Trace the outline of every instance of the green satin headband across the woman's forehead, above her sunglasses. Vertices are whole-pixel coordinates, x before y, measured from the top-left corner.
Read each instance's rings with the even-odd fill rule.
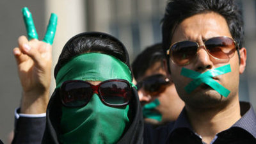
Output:
[[[113,56],[102,53],[86,53],[72,58],[59,70],[56,88],[67,80],[105,81],[125,79],[132,83],[131,70],[125,63]]]

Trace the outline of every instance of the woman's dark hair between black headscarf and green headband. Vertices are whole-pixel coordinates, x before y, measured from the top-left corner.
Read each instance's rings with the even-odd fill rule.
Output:
[[[57,76],[60,68],[71,58],[88,52],[100,52],[114,56],[124,62],[131,70],[129,55],[122,42],[106,33],[87,32],[80,33],[70,38],[65,44],[58,59],[58,63],[54,68],[54,77]]]

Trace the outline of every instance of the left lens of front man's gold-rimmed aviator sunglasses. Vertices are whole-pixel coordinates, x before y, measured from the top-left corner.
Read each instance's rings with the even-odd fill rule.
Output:
[[[177,42],[170,48],[172,60],[177,65],[188,65],[196,56],[198,45],[195,42]]]

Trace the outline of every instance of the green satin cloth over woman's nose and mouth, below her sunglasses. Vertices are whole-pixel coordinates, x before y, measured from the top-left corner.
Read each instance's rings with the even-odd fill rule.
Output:
[[[116,143],[129,125],[129,106],[112,108],[97,94],[83,108],[62,108],[61,143]]]

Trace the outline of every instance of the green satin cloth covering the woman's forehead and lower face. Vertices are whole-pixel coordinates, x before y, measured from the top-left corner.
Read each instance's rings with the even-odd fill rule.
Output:
[[[56,77],[56,87],[64,81],[105,81],[125,79],[132,85],[131,71],[113,56],[101,53],[82,54],[64,65]],[[116,143],[129,125],[129,106],[104,105],[97,94],[83,108],[62,107],[61,143]]]

